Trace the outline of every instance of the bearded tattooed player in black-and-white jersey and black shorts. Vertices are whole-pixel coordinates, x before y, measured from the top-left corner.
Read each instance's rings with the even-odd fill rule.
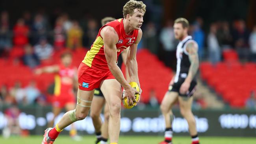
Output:
[[[198,44],[188,35],[188,29],[189,22],[185,18],[178,18],[174,21],[175,38],[180,41],[176,50],[177,70],[160,106],[166,127],[165,141],[160,144],[172,144],[174,115],[171,108],[176,101],[179,102],[180,113],[187,120],[192,144],[199,144],[196,122],[191,111],[192,95],[197,85],[195,75],[199,67]]]

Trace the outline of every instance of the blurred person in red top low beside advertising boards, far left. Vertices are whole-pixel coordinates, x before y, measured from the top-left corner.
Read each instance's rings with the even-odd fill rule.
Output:
[[[7,126],[3,129],[3,136],[8,138],[10,135],[20,135],[19,126],[20,111],[17,106],[13,105],[5,110],[4,115],[7,118]]]

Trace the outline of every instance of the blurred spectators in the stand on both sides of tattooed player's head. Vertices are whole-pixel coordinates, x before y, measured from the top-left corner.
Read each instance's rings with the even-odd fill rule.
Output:
[[[157,54],[167,66],[175,69],[178,41],[174,37],[173,20],[166,20],[159,30],[152,22],[145,25],[144,47]],[[216,21],[204,26],[204,20],[197,17],[190,21],[189,35],[197,41],[198,55],[202,61],[217,63],[222,60],[223,51],[232,49],[236,50],[241,61],[256,62],[256,26],[249,30],[243,19],[231,23]]]

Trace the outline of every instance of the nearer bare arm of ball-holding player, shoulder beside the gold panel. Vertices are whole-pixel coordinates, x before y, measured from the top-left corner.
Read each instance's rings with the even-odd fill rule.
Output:
[[[116,64],[117,48],[115,44],[119,40],[117,32],[111,26],[106,26],[100,31],[100,35],[102,36],[104,41],[104,53],[106,56],[109,70],[111,71],[115,79],[117,79],[117,81],[122,85],[122,87],[124,87],[124,97],[128,97],[128,102],[130,100],[136,102],[134,94],[137,93],[137,91],[133,89],[129,85],[129,83],[124,79],[122,71]]]

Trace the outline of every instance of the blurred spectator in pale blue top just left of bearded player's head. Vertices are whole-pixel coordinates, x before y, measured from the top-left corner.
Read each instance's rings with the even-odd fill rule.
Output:
[[[167,20],[160,32],[160,42],[163,46],[163,57],[166,66],[176,68],[176,43],[173,31],[173,20]]]

